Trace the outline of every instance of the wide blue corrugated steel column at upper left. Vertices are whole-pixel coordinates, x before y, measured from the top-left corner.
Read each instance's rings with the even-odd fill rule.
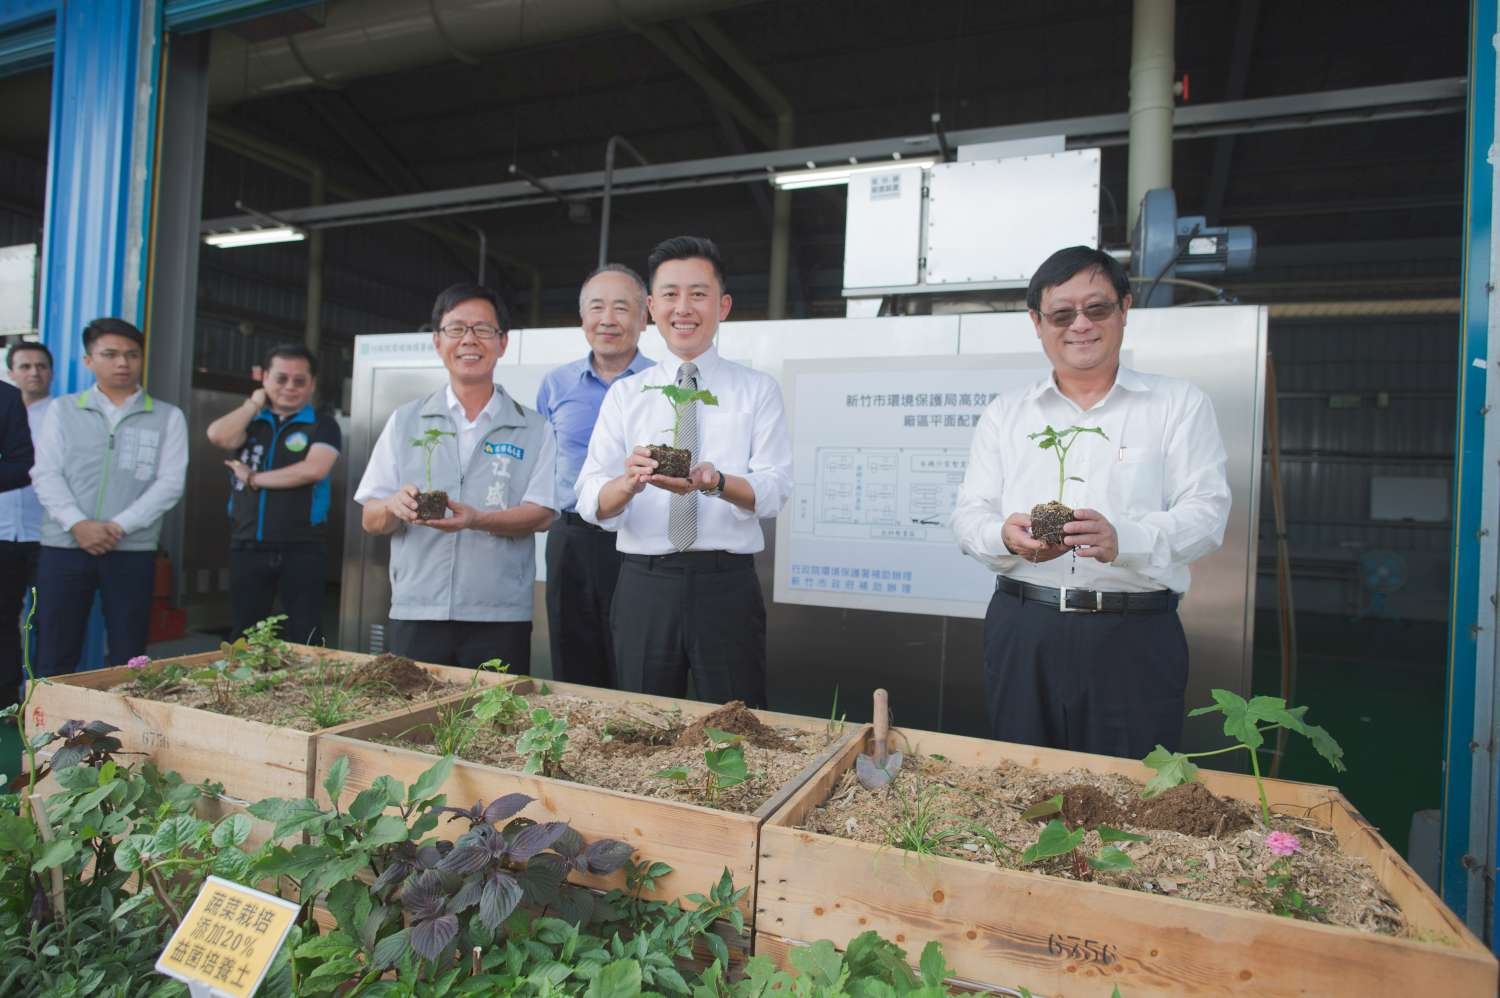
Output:
[[[144,317],[160,48],[159,0],[57,5],[40,332],[58,392],[92,381],[88,320]]]

